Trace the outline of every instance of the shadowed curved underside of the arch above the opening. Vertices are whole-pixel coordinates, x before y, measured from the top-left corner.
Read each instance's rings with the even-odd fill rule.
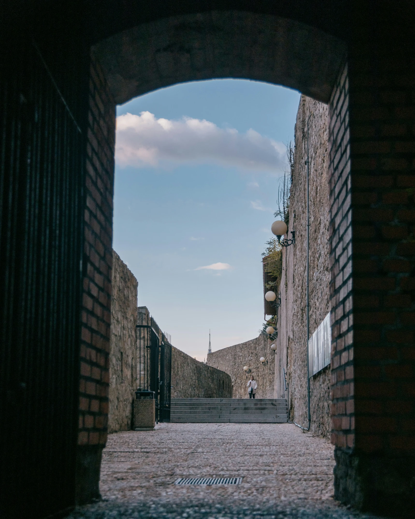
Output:
[[[344,42],[309,25],[244,11],[143,23],[93,47],[117,104],[185,81],[244,78],[328,102]]]

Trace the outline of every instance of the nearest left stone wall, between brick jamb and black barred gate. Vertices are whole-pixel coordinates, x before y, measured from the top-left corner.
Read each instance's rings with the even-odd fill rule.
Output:
[[[136,389],[137,280],[113,251],[108,432],[131,429]]]

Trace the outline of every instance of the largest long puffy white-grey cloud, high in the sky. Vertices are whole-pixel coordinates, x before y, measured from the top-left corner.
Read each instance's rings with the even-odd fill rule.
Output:
[[[121,166],[160,161],[214,162],[246,170],[282,172],[285,147],[253,129],[239,133],[205,119],[157,119],[150,112],[117,117],[116,159]]]

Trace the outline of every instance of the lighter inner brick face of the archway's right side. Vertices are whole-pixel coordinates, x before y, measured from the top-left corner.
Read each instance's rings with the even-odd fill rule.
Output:
[[[329,104],[331,441],[354,446],[352,216],[349,80],[344,66]]]

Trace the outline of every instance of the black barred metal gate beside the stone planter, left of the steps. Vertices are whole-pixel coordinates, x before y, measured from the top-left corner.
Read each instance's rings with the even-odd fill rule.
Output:
[[[156,420],[170,421],[172,346],[148,314],[139,313],[136,328],[137,389],[154,391]]]

